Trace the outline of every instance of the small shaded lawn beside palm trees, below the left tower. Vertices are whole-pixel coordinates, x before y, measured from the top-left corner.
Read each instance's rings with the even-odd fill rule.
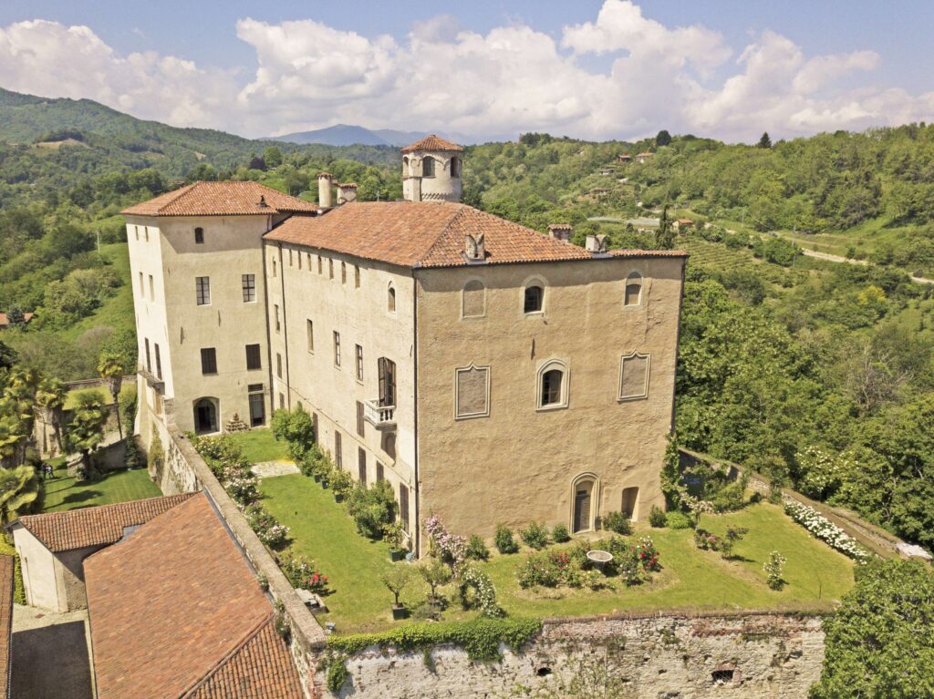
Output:
[[[76,482],[67,476],[64,466],[56,466],[55,476],[45,483],[44,512],[77,510],[162,495],[159,486],[149,480],[149,472],[145,468],[114,471],[100,481]]]

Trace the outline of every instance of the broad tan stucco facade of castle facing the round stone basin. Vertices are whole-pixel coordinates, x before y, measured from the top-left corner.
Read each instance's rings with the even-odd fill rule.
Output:
[[[575,527],[574,490],[592,483],[584,529],[611,510],[644,519],[664,506],[658,482],[672,420],[683,259],[592,259],[419,271],[420,508],[462,533],[532,520]],[[624,305],[626,280],[640,302]],[[462,317],[470,280],[484,314]],[[523,312],[523,289],[545,289]],[[644,398],[620,398],[624,356],[649,357]],[[488,367],[488,414],[456,417],[459,368]],[[541,371],[565,372],[566,404],[539,407]],[[628,501],[624,502],[624,490]],[[579,524],[579,523],[578,523]]]

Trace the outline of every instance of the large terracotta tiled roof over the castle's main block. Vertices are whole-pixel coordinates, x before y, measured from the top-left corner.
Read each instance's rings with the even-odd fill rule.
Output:
[[[488,264],[591,259],[578,245],[462,203],[346,203],[323,216],[289,218],[265,238],[423,268],[466,266],[465,237],[480,233]],[[625,252],[630,257],[684,256],[668,250]]]

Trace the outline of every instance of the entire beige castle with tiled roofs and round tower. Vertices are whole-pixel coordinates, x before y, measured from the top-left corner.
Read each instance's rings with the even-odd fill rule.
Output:
[[[301,406],[340,468],[390,482],[417,551],[432,513],[490,537],[662,505],[686,255],[459,203],[461,152],[404,148],[403,202],[334,206],[324,173],[318,207],[201,183],[124,212],[143,439],[167,412],[213,433]]]

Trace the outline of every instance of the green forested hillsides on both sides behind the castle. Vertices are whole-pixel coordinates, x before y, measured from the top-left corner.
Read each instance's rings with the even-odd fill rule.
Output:
[[[57,117],[50,116],[54,112]],[[31,124],[31,125],[30,125]],[[120,209],[184,181],[254,179],[314,201],[327,169],[363,200],[402,195],[399,152],[300,147],[0,93],[0,311],[21,363],[65,379],[113,350],[134,367]],[[652,152],[644,163],[617,156]],[[692,136],[468,147],[467,203],[576,240],[691,253],[678,439],[934,547],[934,127],[759,146]],[[675,236],[632,217],[688,217]],[[660,221],[659,221],[660,223]],[[103,244],[97,250],[97,238]],[[800,245],[878,264],[806,259]]]

